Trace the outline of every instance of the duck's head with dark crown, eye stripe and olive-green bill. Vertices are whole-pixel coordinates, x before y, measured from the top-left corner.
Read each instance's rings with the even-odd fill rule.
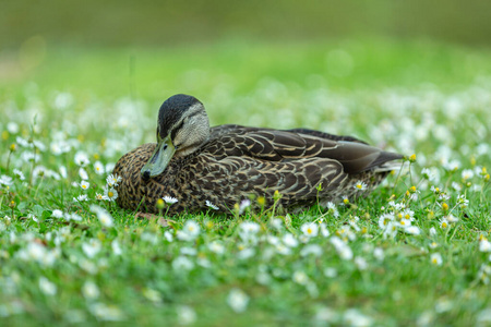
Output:
[[[178,94],[168,98],[158,111],[157,146],[143,166],[143,179],[159,175],[172,157],[195,152],[209,136],[209,121],[202,102]]]

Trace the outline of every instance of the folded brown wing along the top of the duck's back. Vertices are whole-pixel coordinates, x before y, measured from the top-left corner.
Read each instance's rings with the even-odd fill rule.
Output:
[[[267,161],[297,161],[307,158],[333,159],[347,173],[380,168],[402,155],[384,152],[358,140],[332,140],[322,132],[310,130],[279,131],[271,129],[224,125],[214,133],[205,152],[216,158],[250,157]],[[330,138],[331,137],[331,138]],[[346,136],[340,136],[346,137]]]

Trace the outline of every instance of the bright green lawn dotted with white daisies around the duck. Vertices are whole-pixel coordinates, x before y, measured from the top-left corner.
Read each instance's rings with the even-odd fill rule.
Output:
[[[490,324],[489,49],[345,40],[33,51],[29,64],[0,62],[9,68],[0,75],[2,326]],[[94,164],[153,142],[157,108],[175,93],[200,98],[212,124],[354,134],[416,154],[416,162],[367,198],[338,204],[339,216],[321,207],[275,217],[209,211],[165,217],[163,226],[95,199],[109,171],[99,175]],[[73,184],[76,153],[91,161],[86,191]],[[419,234],[397,227],[384,235],[380,217],[393,213],[398,222],[409,213],[400,205],[414,211]],[[64,218],[53,217],[57,209]],[[200,233],[179,240],[188,221]],[[251,221],[259,230],[246,240],[242,223]],[[330,235],[307,237],[310,222]],[[230,294],[247,305],[236,312]]]

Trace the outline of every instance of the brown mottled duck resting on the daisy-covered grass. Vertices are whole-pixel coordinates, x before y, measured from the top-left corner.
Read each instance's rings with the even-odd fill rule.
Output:
[[[157,201],[169,196],[178,201],[166,209],[169,215],[231,213],[251,198],[272,205],[278,191],[283,208],[303,208],[367,195],[400,158],[351,136],[307,129],[209,128],[203,104],[179,94],[158,111],[157,143],[139,146],[116,165],[116,202],[157,213]]]

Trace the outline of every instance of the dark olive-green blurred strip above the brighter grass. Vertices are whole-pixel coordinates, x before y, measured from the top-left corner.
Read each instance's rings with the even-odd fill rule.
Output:
[[[466,44],[491,41],[483,0],[2,0],[0,43],[165,46],[223,38],[275,41],[382,35]]]

